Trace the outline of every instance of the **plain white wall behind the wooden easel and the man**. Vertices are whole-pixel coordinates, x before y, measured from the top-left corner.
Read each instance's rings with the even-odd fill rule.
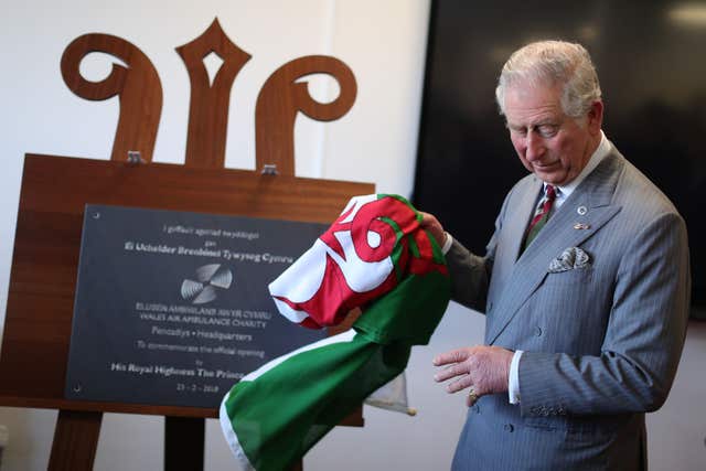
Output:
[[[331,54],[354,71],[359,96],[341,120],[297,125],[297,174],[375,182],[384,192],[409,195],[414,174],[428,0],[25,0],[3,7],[0,18],[0,335],[7,306],[14,225],[25,152],[107,159],[117,122],[117,100],[87,101],[73,95],[60,73],[66,45],[87,32],[121,36],[156,65],[164,106],[154,161],[182,162],[189,113],[189,78],[174,47],[218,17],[231,39],[253,58],[233,93],[226,167],[253,169],[254,107],[269,74],[312,53]],[[109,61],[84,62],[100,79]],[[335,86],[317,81],[313,93],[333,98]],[[333,95],[331,95],[333,93]],[[366,407],[365,428],[335,428],[306,458],[308,471],[448,469],[464,419],[463,397],[434,384],[431,357],[479,343],[482,318],[452,304],[426,347],[416,347],[408,370],[415,418]],[[700,469],[706,462],[706,324],[692,324],[670,400],[649,418],[655,470]],[[0,378],[0,381],[3,381]],[[46,468],[55,411],[0,408],[10,429],[2,471]],[[214,420],[207,421],[206,469],[233,461]],[[162,419],[107,414],[96,470],[162,468]]]

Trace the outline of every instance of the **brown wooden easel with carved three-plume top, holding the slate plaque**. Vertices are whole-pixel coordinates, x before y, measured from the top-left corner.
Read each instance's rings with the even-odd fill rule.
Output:
[[[94,51],[117,55],[129,67],[114,67],[103,83],[89,83],[79,76],[78,64]],[[333,57],[301,57],[270,76],[256,110],[257,170],[244,171],[224,168],[224,133],[229,85],[249,55],[227,40],[217,21],[178,51],[192,81],[184,165],[151,163],[161,110],[159,78],[137,47],[105,34],[87,34],[74,41],[64,53],[62,74],[69,88],[84,98],[120,96],[110,160],[25,156],[0,356],[0,406],[60,410],[50,470],[93,469],[103,413],[164,416],[164,469],[202,469],[204,418],[215,418],[218,413],[215,408],[64,398],[85,204],[325,224],[338,217],[351,196],[374,192],[368,183],[293,175],[298,111],[332,120],[343,116],[355,99],[355,79],[343,63]],[[218,72],[225,78],[216,76],[213,86],[196,71],[195,62],[207,51],[216,51],[226,60],[225,72]],[[312,100],[307,84],[295,82],[311,73],[333,75],[340,83],[339,98],[330,104]],[[151,107],[149,113],[146,106]],[[130,152],[131,161],[127,150],[137,151]],[[278,174],[264,174],[266,165]],[[342,425],[362,426],[361,410]],[[301,463],[295,469],[301,469]]]

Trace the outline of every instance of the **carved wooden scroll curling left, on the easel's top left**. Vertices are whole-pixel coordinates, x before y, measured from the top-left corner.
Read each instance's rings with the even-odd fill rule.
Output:
[[[81,61],[92,52],[111,54],[127,64],[113,64],[101,82],[81,75]],[[128,151],[139,151],[142,160],[152,160],[157,129],[162,113],[162,85],[150,60],[131,43],[109,34],[84,34],[75,39],[62,56],[64,82],[76,95],[104,100],[116,95],[120,116],[113,142],[111,160],[127,160]]]

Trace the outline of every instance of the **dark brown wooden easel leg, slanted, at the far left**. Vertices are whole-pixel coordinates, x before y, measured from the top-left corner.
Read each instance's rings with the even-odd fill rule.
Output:
[[[49,471],[90,471],[103,413],[60,410]]]

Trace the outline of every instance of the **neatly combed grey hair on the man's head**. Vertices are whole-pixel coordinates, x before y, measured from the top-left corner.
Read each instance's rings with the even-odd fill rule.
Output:
[[[601,99],[598,74],[588,51],[576,43],[541,41],[515,51],[500,74],[495,99],[505,114],[505,89],[517,83],[563,85],[561,108],[573,118],[585,116]]]

